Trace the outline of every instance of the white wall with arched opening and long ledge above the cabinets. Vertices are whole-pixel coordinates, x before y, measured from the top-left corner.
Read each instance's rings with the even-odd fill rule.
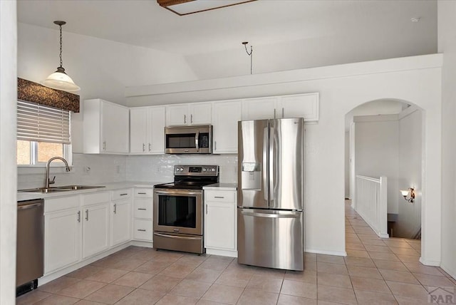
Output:
[[[237,78],[127,88],[128,104],[160,105],[320,93],[320,120],[306,125],[306,251],[344,254],[345,115],[371,100],[410,101],[425,111],[422,262],[440,263],[441,56],[310,68]],[[424,178],[423,178],[424,179]],[[331,192],[328,192],[331,190]],[[426,202],[434,202],[426,205]]]

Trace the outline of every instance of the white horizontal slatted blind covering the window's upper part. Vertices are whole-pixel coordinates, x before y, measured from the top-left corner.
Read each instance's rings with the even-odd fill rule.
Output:
[[[18,100],[17,140],[70,144],[70,111]]]

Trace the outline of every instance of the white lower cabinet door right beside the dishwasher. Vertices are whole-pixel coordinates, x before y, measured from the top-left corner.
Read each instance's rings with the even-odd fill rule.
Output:
[[[79,261],[81,252],[80,210],[52,212],[44,217],[44,274]]]

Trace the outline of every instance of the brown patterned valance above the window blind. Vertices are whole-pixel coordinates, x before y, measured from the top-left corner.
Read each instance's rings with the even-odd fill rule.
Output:
[[[51,89],[23,78],[17,78],[17,99],[79,112],[79,95]]]

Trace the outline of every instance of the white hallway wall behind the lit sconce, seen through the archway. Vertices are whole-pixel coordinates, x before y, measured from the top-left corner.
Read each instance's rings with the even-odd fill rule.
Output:
[[[393,237],[411,238],[421,227],[421,162],[422,162],[422,113],[420,110],[405,110],[399,123],[398,147],[398,221],[395,223]],[[413,203],[406,202],[399,190],[415,189]],[[432,202],[429,202],[432,205]]]

